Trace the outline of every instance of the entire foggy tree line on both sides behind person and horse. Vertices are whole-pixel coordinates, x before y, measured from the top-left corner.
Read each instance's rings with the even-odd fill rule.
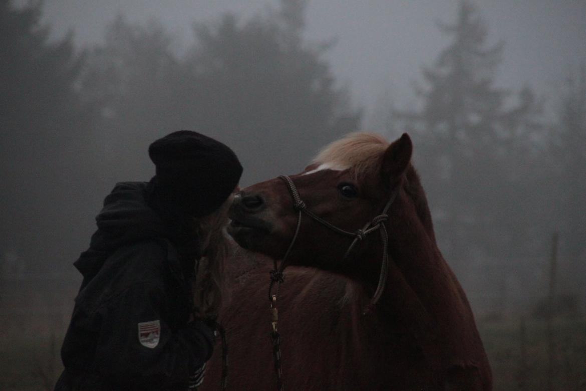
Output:
[[[226,142],[252,183],[299,171],[327,142],[360,130],[328,43],[303,38],[306,2],[266,16],[197,24],[178,53],[156,22],[120,16],[103,43],[54,42],[38,5],[0,0],[0,251],[30,270],[70,270],[114,183],[148,180],[150,142],[191,129]],[[530,86],[495,87],[503,45],[469,1],[441,24],[449,43],[415,87],[418,106],[388,107],[389,137],[408,131],[441,249],[469,285],[529,284],[560,232],[568,286],[586,276],[586,72],[567,74],[556,121]],[[539,277],[539,276],[538,276]],[[465,282],[466,285],[466,282]]]

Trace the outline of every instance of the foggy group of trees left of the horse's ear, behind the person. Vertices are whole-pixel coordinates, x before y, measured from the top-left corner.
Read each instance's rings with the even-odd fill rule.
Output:
[[[226,14],[196,25],[181,54],[161,25],[120,16],[103,43],[76,52],[71,36],[49,40],[39,5],[0,0],[3,258],[71,269],[101,199],[117,181],[148,181],[148,145],[169,132],[226,142],[252,183],[298,171],[359,128],[328,45],[302,39],[304,12],[284,0],[263,17]]]

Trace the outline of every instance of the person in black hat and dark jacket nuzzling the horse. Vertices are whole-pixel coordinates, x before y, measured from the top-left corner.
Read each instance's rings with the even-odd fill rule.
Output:
[[[156,175],[117,183],[74,263],[83,282],[55,390],[185,390],[202,381],[242,166],[229,147],[192,131],[148,152]]]

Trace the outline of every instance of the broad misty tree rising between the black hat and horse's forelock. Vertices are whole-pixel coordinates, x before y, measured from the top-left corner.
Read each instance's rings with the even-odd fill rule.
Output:
[[[328,45],[302,38],[305,4],[285,0],[268,18],[226,16],[196,30],[193,69],[209,91],[197,123],[229,137],[249,168],[245,181],[299,171],[318,148],[359,126],[323,59]]]

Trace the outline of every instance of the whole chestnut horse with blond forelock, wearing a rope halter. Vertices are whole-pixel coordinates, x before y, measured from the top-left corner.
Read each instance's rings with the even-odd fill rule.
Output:
[[[280,260],[294,242],[278,293],[285,389],[491,389],[468,300],[435,241],[412,149],[407,134],[392,144],[350,134],[291,183],[275,178],[236,196],[229,232],[240,246]],[[232,300],[221,317],[228,389],[277,389],[264,256],[248,253],[230,266]],[[220,356],[208,366],[206,390],[220,387]]]

